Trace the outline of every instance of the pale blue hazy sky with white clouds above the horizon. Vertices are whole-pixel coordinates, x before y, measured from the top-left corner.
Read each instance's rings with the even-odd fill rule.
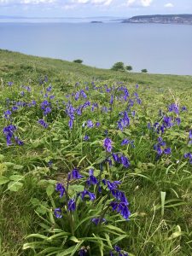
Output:
[[[0,15],[89,17],[192,14],[192,0],[0,0]]]

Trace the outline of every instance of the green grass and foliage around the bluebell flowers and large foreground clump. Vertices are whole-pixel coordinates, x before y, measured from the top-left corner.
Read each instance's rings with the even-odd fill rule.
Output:
[[[49,82],[39,85],[44,75]],[[14,105],[14,102],[6,103],[7,98],[15,102],[37,102],[35,107],[19,107],[12,113],[12,122],[18,127],[17,136],[25,143],[23,146],[8,147],[3,132],[0,137],[0,182],[2,177],[9,179],[8,183],[0,185],[0,255],[36,255],[22,247],[27,235],[42,232],[39,225],[42,219],[38,214],[45,217],[44,209],[50,209],[52,198],[56,197],[55,192],[47,195],[48,185],[55,181],[65,183],[67,172],[74,166],[79,166],[84,175],[90,166],[98,170],[98,163],[106,154],[102,147],[106,130],[113,141],[113,152],[120,151],[131,161],[128,169],[116,164],[108,172],[108,166],[104,167],[106,178],[123,181],[121,189],[130,201],[131,220],[119,224],[127,235],[120,246],[134,256],[191,255],[192,165],[183,154],[192,153],[192,144],[188,144],[189,130],[192,130],[192,77],[113,72],[0,50],[0,79],[1,116]],[[8,86],[9,81],[14,84]],[[92,81],[103,92],[94,90]],[[116,99],[111,112],[102,112],[103,106],[110,107],[111,94],[120,94],[114,92],[116,90],[106,93],[105,84],[108,88],[113,85],[118,88],[122,85],[120,81],[129,90],[131,99],[135,97],[135,84],[139,84],[137,93],[142,99],[141,105],[135,102],[131,108],[136,111],[136,117],[129,113],[131,124],[124,131],[117,130],[117,121],[127,102]],[[77,82],[79,85],[75,86]],[[38,119],[43,117],[41,91],[45,92],[49,83],[53,86],[49,94],[55,95],[55,99],[51,100],[52,112],[45,118],[49,128],[44,129],[38,125]],[[21,85],[29,85],[32,91],[26,92]],[[87,108],[81,116],[75,116],[74,128],[69,130],[69,118],[62,102],[68,101],[67,94],[85,86],[90,88],[85,91],[88,97],[75,101],[70,96],[73,106],[77,108],[90,100],[98,102],[99,108],[94,112]],[[21,90],[25,90],[24,96],[20,96]],[[186,106],[188,111],[179,113],[181,125],[166,129],[162,135],[167,147],[172,148],[172,154],[164,154],[157,160],[154,143],[158,134],[148,130],[147,124],[160,122],[159,110],[175,119],[176,113],[167,113],[167,106],[174,102],[180,108]],[[83,128],[88,119],[102,125]],[[1,131],[9,123],[2,118]],[[84,142],[84,135],[88,135],[90,141]],[[135,148],[120,145],[125,137],[134,140]],[[53,160],[51,168],[49,160]],[[13,181],[14,186],[9,188]]]

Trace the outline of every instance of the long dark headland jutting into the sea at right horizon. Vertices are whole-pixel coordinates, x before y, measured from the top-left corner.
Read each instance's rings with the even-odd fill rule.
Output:
[[[192,25],[192,15],[139,15],[122,20],[122,23],[160,23]]]

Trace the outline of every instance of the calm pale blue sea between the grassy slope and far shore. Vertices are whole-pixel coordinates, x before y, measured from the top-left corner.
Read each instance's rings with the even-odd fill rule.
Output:
[[[110,68],[192,75],[192,26],[163,24],[0,23],[0,48],[29,55],[84,60]]]

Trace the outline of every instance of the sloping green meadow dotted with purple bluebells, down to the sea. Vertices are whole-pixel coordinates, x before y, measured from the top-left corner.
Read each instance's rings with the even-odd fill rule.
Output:
[[[191,96],[0,50],[0,255],[191,255]]]

